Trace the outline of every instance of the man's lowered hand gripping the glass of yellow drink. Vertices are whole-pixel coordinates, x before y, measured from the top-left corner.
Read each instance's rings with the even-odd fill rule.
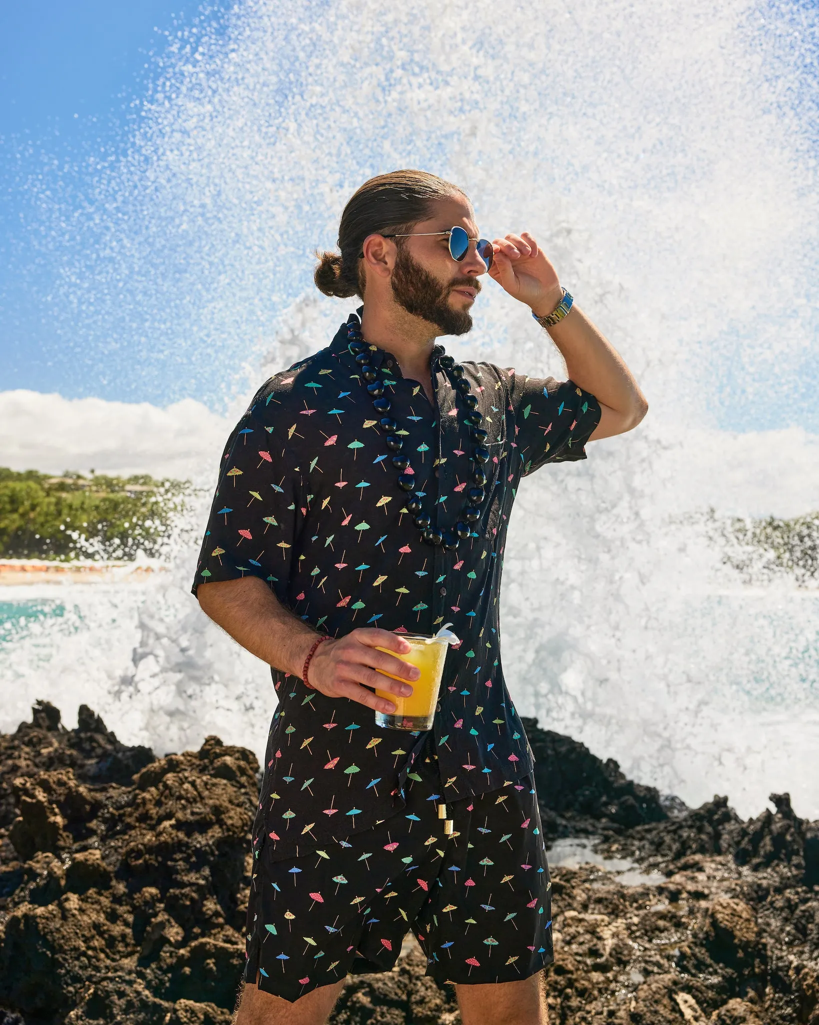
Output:
[[[376,711],[393,714],[392,701],[378,697],[368,688],[378,687],[380,691],[410,697],[413,688],[408,682],[418,680],[421,670],[378,648],[388,648],[400,655],[410,651],[410,645],[399,633],[361,626],[318,646],[308,670],[310,684],[329,698],[349,698]],[[391,680],[385,672],[401,680]]]

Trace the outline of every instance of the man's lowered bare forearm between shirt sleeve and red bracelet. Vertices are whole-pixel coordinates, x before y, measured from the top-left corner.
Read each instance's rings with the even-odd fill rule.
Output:
[[[263,662],[301,676],[318,634],[278,601],[258,577],[201,583],[202,610],[243,648]]]

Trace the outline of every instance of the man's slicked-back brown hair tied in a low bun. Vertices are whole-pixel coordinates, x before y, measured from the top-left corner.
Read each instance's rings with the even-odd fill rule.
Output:
[[[369,235],[411,231],[431,216],[435,203],[463,189],[428,171],[390,171],[364,181],[344,207],[339,225],[340,252],[320,252],[313,280],[325,295],[363,298],[361,246]]]

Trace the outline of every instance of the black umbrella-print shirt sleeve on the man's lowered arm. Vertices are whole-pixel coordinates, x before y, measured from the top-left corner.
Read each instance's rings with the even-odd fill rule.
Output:
[[[286,598],[296,540],[293,458],[274,413],[250,407],[227,441],[191,587],[257,576]],[[269,423],[267,422],[269,420]],[[276,440],[277,436],[277,440]]]

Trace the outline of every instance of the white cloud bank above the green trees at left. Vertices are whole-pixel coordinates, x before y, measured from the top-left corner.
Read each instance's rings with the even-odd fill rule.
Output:
[[[238,415],[218,416],[193,399],[160,409],[147,402],[0,392],[0,465],[202,480],[215,474]]]

